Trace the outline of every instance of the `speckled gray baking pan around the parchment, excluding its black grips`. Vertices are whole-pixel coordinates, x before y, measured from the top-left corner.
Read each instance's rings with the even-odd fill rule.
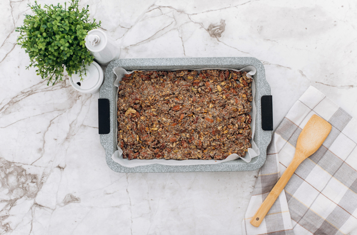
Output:
[[[202,69],[202,68],[227,68],[242,69],[246,66],[254,66],[257,73],[253,75],[256,83],[256,95],[254,100],[257,107],[256,130],[254,141],[258,145],[260,155],[253,158],[249,163],[241,159],[222,162],[212,165],[191,165],[191,166],[168,166],[151,164],[137,167],[124,167],[112,160],[113,153],[117,150],[116,136],[116,92],[114,86],[116,75],[113,72],[115,67],[122,67],[127,71],[132,70],[173,70],[173,69]],[[204,58],[136,58],[119,59],[112,61],[105,71],[104,83],[100,88],[100,98],[110,101],[110,133],[100,134],[100,143],[106,151],[108,166],[116,172],[191,172],[191,171],[245,171],[257,170],[265,162],[267,146],[270,143],[272,131],[262,129],[261,117],[261,97],[270,95],[270,86],[265,79],[263,64],[252,57],[204,57]],[[203,160],[202,160],[203,161]]]

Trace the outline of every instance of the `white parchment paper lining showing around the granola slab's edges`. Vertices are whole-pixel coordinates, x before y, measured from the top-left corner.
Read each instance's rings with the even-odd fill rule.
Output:
[[[207,69],[220,69],[220,70],[226,70],[224,68],[205,68],[205,69],[195,69],[197,71],[201,70],[207,70]],[[175,69],[175,70],[185,70],[185,69]],[[175,71],[172,70],[172,71]],[[192,69],[188,69],[192,70]],[[256,74],[257,70],[253,66],[247,66],[241,70],[236,70],[236,69],[229,69],[229,70],[234,70],[234,71],[243,71],[247,72],[247,76],[251,77],[252,75]],[[127,72],[125,69],[117,67],[113,69],[114,73],[117,76],[117,79],[114,82],[114,85],[116,87],[119,87],[120,81],[124,74],[131,74],[135,71]],[[146,70],[143,70],[146,71]],[[256,114],[257,114],[257,108],[256,108],[256,103],[254,102],[254,96],[256,94],[256,86],[254,83],[254,80],[251,83],[251,92],[253,96],[253,101],[251,102],[252,110],[250,112],[251,115],[251,148],[248,149],[248,152],[245,154],[244,157],[240,157],[238,154],[231,154],[224,160],[197,160],[197,159],[188,159],[188,160],[175,160],[175,159],[132,159],[129,160],[127,158],[123,158],[123,151],[120,149],[118,146],[118,150],[114,152],[112,155],[113,161],[119,163],[122,166],[126,167],[135,167],[135,166],[144,166],[144,165],[149,165],[149,164],[162,164],[162,165],[171,165],[171,166],[187,166],[187,165],[206,165],[206,164],[217,164],[221,162],[227,162],[227,161],[232,161],[236,160],[238,158],[241,158],[245,162],[250,162],[252,158],[257,157],[259,155],[259,149],[257,144],[254,142],[253,137],[254,137],[254,130],[256,128]],[[116,106],[117,106],[117,101],[118,101],[118,92],[116,95]],[[116,109],[117,113],[117,109]],[[118,138],[118,124],[116,123],[116,138]]]

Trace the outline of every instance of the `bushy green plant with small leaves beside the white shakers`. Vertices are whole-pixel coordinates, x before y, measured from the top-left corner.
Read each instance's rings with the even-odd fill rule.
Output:
[[[47,85],[62,81],[64,69],[68,75],[86,76],[85,65],[93,62],[94,56],[85,46],[88,31],[100,26],[91,22],[87,8],[79,9],[79,0],[72,0],[70,6],[54,5],[31,6],[33,15],[26,15],[17,39],[18,44],[30,56],[31,64],[36,67],[37,75],[47,79]],[[84,68],[84,69],[83,69]],[[83,77],[82,77],[83,76]]]

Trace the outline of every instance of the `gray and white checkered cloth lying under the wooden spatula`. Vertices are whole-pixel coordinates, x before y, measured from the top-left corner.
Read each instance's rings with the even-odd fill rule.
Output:
[[[297,138],[313,114],[332,125],[320,149],[305,159],[257,228],[250,219],[283,174]],[[348,234],[357,228],[357,121],[315,87],[276,128],[242,222],[243,234]]]

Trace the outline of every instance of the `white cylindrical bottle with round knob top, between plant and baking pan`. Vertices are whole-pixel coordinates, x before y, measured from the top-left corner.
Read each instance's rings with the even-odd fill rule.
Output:
[[[119,58],[120,48],[103,31],[91,30],[85,40],[87,49],[94,55],[94,60],[99,65],[107,66],[111,61]]]

